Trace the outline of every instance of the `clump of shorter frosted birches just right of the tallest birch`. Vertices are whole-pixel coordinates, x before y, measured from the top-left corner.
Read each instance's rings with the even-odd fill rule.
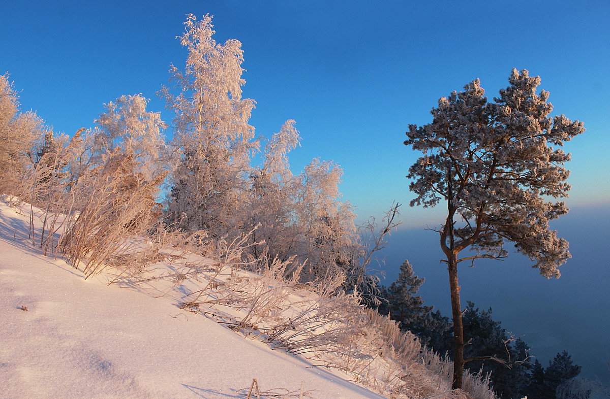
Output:
[[[340,201],[342,170],[314,159],[292,175],[287,155],[300,141],[294,123],[282,125],[265,145],[262,164],[249,172],[247,199],[240,206],[244,230],[257,227],[249,250],[255,258],[295,258],[305,265],[304,281],[343,276],[343,288],[353,290],[362,243],[349,203]]]

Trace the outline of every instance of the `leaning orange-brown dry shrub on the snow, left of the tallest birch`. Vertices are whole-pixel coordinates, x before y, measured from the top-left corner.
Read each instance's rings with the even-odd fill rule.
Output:
[[[154,201],[165,176],[145,180],[132,154],[118,150],[106,163],[83,175],[72,193],[79,200],[68,213],[60,250],[74,267],[84,263],[88,277],[103,269],[110,256],[154,224],[160,211]]]

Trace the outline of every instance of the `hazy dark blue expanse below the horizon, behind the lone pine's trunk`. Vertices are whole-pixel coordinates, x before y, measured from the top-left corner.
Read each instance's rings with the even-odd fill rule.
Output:
[[[408,212],[403,210],[404,215]],[[475,267],[462,263],[462,307],[467,300],[479,309],[491,307],[493,318],[522,336],[544,367],[567,350],[583,367],[582,377],[610,384],[610,205],[572,209],[551,228],[567,239],[572,253],[559,268],[561,278],[547,280],[531,268],[533,262],[516,253],[504,261],[476,261]],[[384,284],[397,278],[400,264],[408,259],[415,274],[425,278],[418,294],[426,305],[451,315],[438,233],[423,228],[395,231],[380,256],[386,261]]]

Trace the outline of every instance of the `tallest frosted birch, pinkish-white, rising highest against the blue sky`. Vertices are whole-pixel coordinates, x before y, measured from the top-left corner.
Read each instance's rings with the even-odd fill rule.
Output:
[[[217,44],[212,18],[189,14],[181,44],[188,50],[184,72],[171,66],[179,93],[162,88],[174,112],[174,158],[167,217],[184,230],[224,235],[241,221],[251,151],[257,143],[248,119],[254,101],[242,99],[243,51],[237,40]]]

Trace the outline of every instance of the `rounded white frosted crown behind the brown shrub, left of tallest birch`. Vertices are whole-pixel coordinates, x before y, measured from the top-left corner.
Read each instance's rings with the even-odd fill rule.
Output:
[[[133,154],[142,173],[152,178],[163,169],[160,155],[165,141],[165,122],[158,112],[146,111],[146,99],[142,94],[121,96],[115,102],[105,104],[106,112],[95,120],[95,152],[102,158],[109,157],[115,148]]]

